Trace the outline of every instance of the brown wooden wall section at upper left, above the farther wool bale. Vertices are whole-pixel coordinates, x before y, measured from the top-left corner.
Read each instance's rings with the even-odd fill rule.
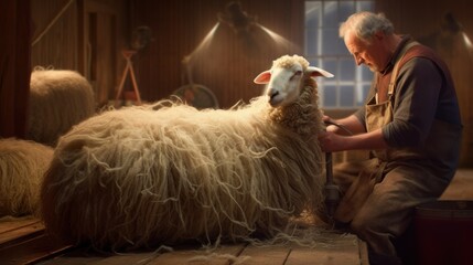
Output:
[[[118,52],[126,45],[127,0],[31,0],[31,68],[74,70],[93,85],[98,106],[114,98]]]

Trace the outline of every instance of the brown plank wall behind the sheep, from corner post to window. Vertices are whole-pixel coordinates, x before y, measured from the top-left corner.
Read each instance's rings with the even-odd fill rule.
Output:
[[[133,59],[142,97],[157,100],[169,97],[189,84],[182,61],[192,54],[218,22],[230,1],[131,0],[132,26],[148,25],[154,40]],[[254,77],[271,66],[281,54],[301,53],[304,3],[301,0],[241,0],[241,8],[257,17],[258,24],[278,33],[292,44],[271,40],[261,29],[250,31],[248,40],[238,36],[226,23],[219,23],[211,43],[192,56],[193,82],[212,89],[221,107],[247,102],[261,93]],[[248,36],[248,35],[247,35]],[[254,42],[251,42],[254,41]]]

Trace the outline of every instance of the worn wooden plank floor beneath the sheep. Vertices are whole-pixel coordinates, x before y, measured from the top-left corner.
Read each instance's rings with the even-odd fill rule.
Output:
[[[443,200],[473,200],[473,169],[459,170],[443,193]],[[26,216],[0,219],[0,264],[333,264],[367,265],[366,244],[353,234],[323,231],[315,245],[229,244],[217,248],[180,246],[155,252],[104,254],[85,247],[55,243],[44,233],[41,221]]]

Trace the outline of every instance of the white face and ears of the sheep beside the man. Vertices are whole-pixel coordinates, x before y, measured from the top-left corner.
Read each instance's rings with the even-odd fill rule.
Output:
[[[290,59],[290,56],[284,57]],[[304,68],[299,61],[292,60],[290,63],[284,61],[283,64],[276,64],[271,70],[260,73],[255,78],[255,83],[267,84],[265,94],[269,97],[269,104],[272,107],[279,107],[289,105],[298,99],[303,86],[303,78],[321,75],[326,77],[333,76],[321,68],[312,66]]]

